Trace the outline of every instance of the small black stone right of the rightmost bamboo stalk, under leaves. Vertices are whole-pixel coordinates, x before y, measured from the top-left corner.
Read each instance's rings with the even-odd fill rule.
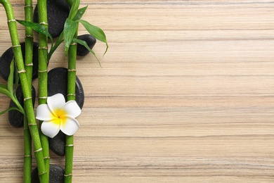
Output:
[[[96,39],[91,34],[84,34],[77,37],[88,44],[89,48],[92,49],[96,44]],[[77,56],[86,56],[89,53],[89,50],[81,44],[77,44]]]

